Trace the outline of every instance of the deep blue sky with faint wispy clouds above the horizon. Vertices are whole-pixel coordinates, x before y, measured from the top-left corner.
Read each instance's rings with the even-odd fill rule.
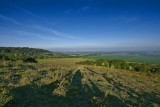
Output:
[[[0,0],[0,47],[160,50],[160,0]]]

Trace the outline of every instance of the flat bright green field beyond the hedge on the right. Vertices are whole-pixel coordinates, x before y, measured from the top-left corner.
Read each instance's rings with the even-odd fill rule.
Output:
[[[112,53],[86,57],[89,59],[120,59],[129,62],[160,64],[160,54]]]

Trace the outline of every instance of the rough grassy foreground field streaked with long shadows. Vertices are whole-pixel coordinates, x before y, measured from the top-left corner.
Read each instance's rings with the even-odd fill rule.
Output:
[[[160,75],[75,64],[81,60],[1,62],[0,106],[160,106]]]

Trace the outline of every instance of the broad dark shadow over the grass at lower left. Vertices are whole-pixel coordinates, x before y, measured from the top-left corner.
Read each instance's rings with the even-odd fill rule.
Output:
[[[13,99],[3,107],[42,107],[54,103],[52,92],[58,87],[59,81],[38,87],[36,84],[27,85],[11,90]]]

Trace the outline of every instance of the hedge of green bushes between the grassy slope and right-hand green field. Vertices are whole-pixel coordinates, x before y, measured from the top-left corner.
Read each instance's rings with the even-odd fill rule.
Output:
[[[138,71],[138,72],[152,72],[160,74],[160,65],[136,63],[136,62],[129,63],[124,60],[106,60],[106,59],[86,60],[77,62],[77,64],[104,66],[116,69]]]

